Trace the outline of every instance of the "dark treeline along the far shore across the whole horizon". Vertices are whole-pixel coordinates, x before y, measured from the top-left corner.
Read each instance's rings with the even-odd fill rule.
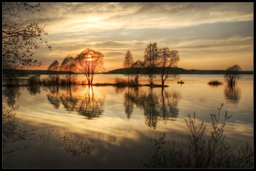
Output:
[[[48,75],[53,74],[55,71],[49,71],[49,70],[12,70],[13,73],[16,76],[27,76],[27,75]],[[159,69],[156,68],[154,74],[159,74]],[[171,67],[170,69],[172,74],[226,74],[226,70],[187,70],[187,69],[181,69],[179,67]],[[3,75],[6,75],[9,72],[9,70],[3,69]],[[239,71],[240,74],[253,74],[253,71]],[[65,74],[65,71],[58,71],[59,74]],[[81,74],[73,72],[72,74]],[[107,72],[102,72],[98,74],[125,74],[125,69],[115,69]],[[135,74],[135,73],[131,73]],[[146,69],[142,68],[141,74],[146,74]]]

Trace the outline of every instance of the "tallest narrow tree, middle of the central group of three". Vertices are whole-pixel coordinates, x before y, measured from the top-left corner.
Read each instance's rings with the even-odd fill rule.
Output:
[[[153,84],[153,79],[155,78],[155,69],[158,66],[158,47],[157,43],[150,43],[144,51],[144,63],[147,71],[147,76],[150,84]]]

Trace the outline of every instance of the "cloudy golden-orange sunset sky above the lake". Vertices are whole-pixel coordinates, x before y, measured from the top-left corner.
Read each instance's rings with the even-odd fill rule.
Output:
[[[40,2],[44,10],[23,12],[20,22],[45,25],[34,59],[47,70],[57,60],[86,48],[104,55],[105,71],[123,68],[129,49],[144,59],[150,43],[179,52],[183,69],[253,70],[253,2]]]

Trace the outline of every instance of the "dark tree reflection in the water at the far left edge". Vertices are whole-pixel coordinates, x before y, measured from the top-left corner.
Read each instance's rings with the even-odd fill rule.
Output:
[[[11,86],[11,87],[3,88],[3,97],[7,97],[5,101],[9,107],[13,107],[15,105],[15,99],[19,99],[20,97],[19,91],[20,91],[19,86]]]

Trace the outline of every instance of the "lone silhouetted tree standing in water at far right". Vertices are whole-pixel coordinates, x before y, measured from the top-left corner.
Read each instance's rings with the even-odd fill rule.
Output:
[[[228,82],[228,84],[230,86],[235,85],[236,79],[241,78],[240,71],[242,71],[242,69],[237,64],[233,65],[231,67],[228,67],[228,69],[226,69],[226,74],[225,74],[224,78],[226,79],[226,81]]]

